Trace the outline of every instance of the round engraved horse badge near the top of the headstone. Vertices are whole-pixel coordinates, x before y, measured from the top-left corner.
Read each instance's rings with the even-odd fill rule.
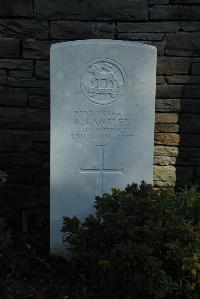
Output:
[[[122,66],[111,59],[90,62],[81,75],[81,89],[88,100],[106,105],[115,102],[126,87],[126,74]]]

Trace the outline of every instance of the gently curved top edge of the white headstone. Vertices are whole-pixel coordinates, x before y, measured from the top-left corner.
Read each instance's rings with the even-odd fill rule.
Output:
[[[134,48],[140,49],[149,49],[157,52],[157,48],[151,45],[128,41],[128,40],[113,40],[113,39],[83,39],[83,40],[75,40],[75,41],[66,41],[55,43],[51,45],[50,51],[58,48],[63,48],[65,46],[75,46],[75,45],[115,45],[115,46],[132,46]]]

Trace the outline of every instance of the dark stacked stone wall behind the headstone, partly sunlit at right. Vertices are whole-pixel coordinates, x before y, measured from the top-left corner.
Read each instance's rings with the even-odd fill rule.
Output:
[[[200,183],[200,0],[0,0],[1,213],[24,232],[48,226],[49,47],[87,38],[157,47],[155,183]]]

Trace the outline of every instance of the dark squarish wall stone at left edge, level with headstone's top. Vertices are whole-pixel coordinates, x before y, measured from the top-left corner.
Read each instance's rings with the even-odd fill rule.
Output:
[[[14,38],[0,38],[0,58],[20,57],[20,40]]]

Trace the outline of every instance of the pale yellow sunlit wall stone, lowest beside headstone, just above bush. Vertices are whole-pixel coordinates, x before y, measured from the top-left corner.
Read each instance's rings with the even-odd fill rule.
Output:
[[[162,186],[174,186],[176,182],[176,168],[171,165],[154,165],[154,182]]]

